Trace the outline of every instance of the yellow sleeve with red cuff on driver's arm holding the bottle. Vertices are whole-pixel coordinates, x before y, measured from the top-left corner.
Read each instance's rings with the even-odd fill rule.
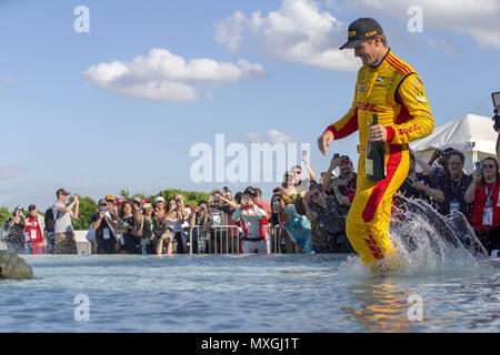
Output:
[[[418,74],[406,77],[396,95],[401,104],[401,112],[407,111],[407,113],[403,122],[386,126],[387,141],[404,144],[431,134],[434,129],[434,119],[427,101],[423,83]]]

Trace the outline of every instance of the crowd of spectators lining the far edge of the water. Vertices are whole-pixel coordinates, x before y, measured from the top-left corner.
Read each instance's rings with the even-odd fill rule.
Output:
[[[97,254],[184,253],[353,253],[346,219],[356,195],[357,174],[348,155],[336,156],[317,181],[307,156],[284,173],[270,201],[257,187],[232,192],[213,190],[208,201],[187,205],[183,195],[166,201],[108,195],[91,215],[87,239]],[[429,203],[442,215],[461,212],[491,253],[500,250],[500,173],[498,160],[486,158],[472,174],[464,173],[464,155],[452,148],[437,150],[424,162],[410,151],[408,176],[394,197]],[[417,169],[420,166],[420,169]],[[339,173],[336,173],[338,170]],[[8,248],[18,253],[76,254],[71,220],[79,199],[57,191],[57,201],[41,217],[34,205],[26,215],[16,207],[2,227]],[[403,197],[401,197],[403,196]]]

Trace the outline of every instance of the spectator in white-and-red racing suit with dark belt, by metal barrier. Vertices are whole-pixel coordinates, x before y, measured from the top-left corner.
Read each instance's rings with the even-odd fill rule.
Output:
[[[267,223],[266,211],[256,203],[257,193],[247,189],[241,196],[241,204],[232,214],[232,220],[239,222],[243,229],[242,253],[268,252],[263,225]]]

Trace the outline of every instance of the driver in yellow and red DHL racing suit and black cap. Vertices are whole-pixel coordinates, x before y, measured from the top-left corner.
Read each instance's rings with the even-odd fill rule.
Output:
[[[430,134],[434,123],[422,81],[413,69],[387,47],[380,24],[369,18],[349,26],[349,40],[362,61],[349,112],[318,139],[323,155],[333,140],[359,131],[357,193],[347,219],[347,235],[364,264],[383,270],[394,255],[389,240],[392,196],[408,175],[408,143]],[[371,125],[377,113],[379,124]],[[368,141],[384,142],[386,179],[371,181],[366,173]],[[388,257],[389,256],[389,257]]]

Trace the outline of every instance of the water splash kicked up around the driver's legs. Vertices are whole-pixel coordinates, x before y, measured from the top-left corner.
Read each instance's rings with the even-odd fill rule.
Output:
[[[434,271],[473,270],[488,260],[484,247],[461,213],[442,216],[421,200],[398,196],[401,207],[394,207],[390,224],[390,240],[396,255],[379,263],[392,274],[416,275]],[[397,260],[397,270],[391,270]],[[389,267],[387,266],[389,264]],[[348,257],[340,272],[349,276],[366,276],[369,267],[359,256]]]

